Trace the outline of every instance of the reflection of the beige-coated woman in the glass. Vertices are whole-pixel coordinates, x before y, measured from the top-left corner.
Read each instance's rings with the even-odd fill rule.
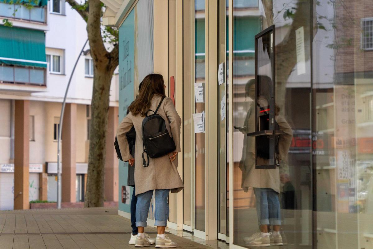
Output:
[[[242,133],[247,134],[255,130],[255,108],[269,105],[270,89],[272,80],[267,76],[260,76],[261,85],[267,88],[261,91],[257,103],[253,101],[247,112]],[[248,97],[255,100],[255,80],[250,80],[246,84],[245,92]],[[284,132],[278,140],[278,158],[286,160],[289,146],[292,139],[292,130],[285,118],[279,115],[279,107],[275,107],[275,119],[280,130]],[[256,210],[258,217],[259,230],[250,237],[244,237],[246,246],[269,246],[283,245],[280,235],[280,176],[279,167],[275,169],[256,169],[255,168],[255,137],[245,136],[244,148],[240,162],[242,170],[242,189],[247,192],[252,187],[256,197]],[[259,158],[258,161],[267,159]],[[273,232],[269,233],[269,226],[273,226]]]

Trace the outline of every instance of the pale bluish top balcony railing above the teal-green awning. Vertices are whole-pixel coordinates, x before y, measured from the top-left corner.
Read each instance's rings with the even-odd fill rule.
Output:
[[[38,6],[28,9],[24,5],[0,2],[0,16],[41,23],[45,23],[46,21],[45,7]]]

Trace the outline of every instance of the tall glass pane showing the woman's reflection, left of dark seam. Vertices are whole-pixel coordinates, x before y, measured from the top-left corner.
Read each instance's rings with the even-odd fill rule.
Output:
[[[272,239],[272,245],[311,248],[311,147],[293,142],[309,141],[311,134],[312,5],[259,1],[248,8],[233,0],[233,6],[233,243],[250,248],[258,240],[269,246]],[[273,36],[263,36],[255,47],[255,36],[272,25]],[[259,124],[272,122],[263,119],[267,112],[275,117],[267,126],[282,132],[274,149],[265,142],[270,136],[247,136],[256,131],[256,113]],[[257,168],[269,164],[276,166]]]

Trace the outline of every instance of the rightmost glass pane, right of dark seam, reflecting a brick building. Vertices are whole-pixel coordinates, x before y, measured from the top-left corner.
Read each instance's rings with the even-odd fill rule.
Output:
[[[373,247],[371,5],[367,0],[316,4],[312,146],[317,248]]]

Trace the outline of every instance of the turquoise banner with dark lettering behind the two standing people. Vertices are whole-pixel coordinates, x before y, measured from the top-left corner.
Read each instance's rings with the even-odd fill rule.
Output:
[[[134,100],[135,15],[134,9],[119,28],[119,122]],[[119,161],[119,210],[130,212],[132,187],[127,186],[128,163]]]

